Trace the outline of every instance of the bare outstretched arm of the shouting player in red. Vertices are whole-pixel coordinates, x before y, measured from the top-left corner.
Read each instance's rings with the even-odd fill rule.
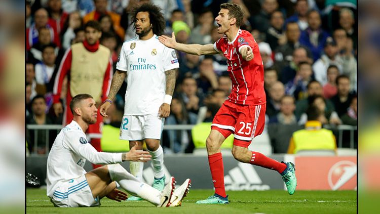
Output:
[[[172,33],[172,37],[161,35],[159,36],[159,40],[162,44],[164,44],[168,48],[173,48],[178,51],[182,51],[188,54],[194,55],[210,55],[210,54],[218,54],[214,49],[213,44],[208,45],[199,45],[199,44],[181,44],[175,40],[174,32]]]

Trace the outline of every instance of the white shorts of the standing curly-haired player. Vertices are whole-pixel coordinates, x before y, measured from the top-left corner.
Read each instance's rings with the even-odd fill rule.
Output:
[[[144,139],[161,139],[165,119],[157,114],[124,115],[120,127],[120,139],[139,141]]]

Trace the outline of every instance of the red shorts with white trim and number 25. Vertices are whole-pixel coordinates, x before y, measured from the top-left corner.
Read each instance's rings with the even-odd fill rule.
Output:
[[[216,113],[211,129],[220,132],[224,138],[234,134],[234,145],[248,147],[264,130],[266,109],[267,104],[240,105],[225,101]]]

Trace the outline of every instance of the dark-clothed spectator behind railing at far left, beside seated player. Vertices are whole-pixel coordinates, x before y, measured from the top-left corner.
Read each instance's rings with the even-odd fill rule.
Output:
[[[31,101],[31,114],[26,118],[27,124],[53,124],[52,119],[46,114],[47,106],[44,96],[37,95]],[[38,154],[46,153],[46,143],[53,143],[52,138],[49,138],[51,142],[46,142],[47,133],[45,130],[29,131],[28,146],[30,151],[37,152]],[[37,136],[34,136],[37,135]],[[35,142],[36,139],[36,142]],[[35,150],[36,148],[37,150]]]

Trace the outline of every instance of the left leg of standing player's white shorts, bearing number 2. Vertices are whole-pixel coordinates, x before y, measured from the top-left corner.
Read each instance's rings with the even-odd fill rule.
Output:
[[[139,115],[124,115],[120,126],[120,139],[128,141],[142,141],[142,123]]]

